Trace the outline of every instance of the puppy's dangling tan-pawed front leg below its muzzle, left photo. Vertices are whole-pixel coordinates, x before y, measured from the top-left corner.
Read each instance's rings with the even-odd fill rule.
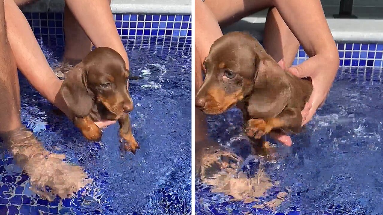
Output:
[[[124,114],[118,119],[120,125],[119,134],[122,138],[122,149],[131,151],[134,155],[136,150],[140,148],[137,141],[134,139],[132,134],[132,127],[130,125],[129,114]]]

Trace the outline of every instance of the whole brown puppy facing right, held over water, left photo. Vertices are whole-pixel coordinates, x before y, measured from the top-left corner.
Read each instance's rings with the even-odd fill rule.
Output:
[[[85,138],[100,140],[101,129],[95,121],[118,120],[122,148],[135,154],[139,145],[133,137],[128,114],[133,110],[127,89],[129,70],[121,55],[113,49],[99,47],[65,76],[59,93]]]

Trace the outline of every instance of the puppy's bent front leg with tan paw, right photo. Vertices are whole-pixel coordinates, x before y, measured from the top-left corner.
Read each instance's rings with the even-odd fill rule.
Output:
[[[256,139],[270,133],[273,129],[287,128],[293,132],[300,132],[302,123],[301,111],[296,108],[285,108],[277,117],[269,119],[249,119],[246,124],[248,137]]]

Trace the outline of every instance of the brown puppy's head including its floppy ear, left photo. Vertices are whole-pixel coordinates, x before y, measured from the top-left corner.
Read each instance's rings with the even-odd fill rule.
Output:
[[[133,110],[128,77],[123,58],[113,49],[99,47],[68,73],[61,87],[62,97],[77,117],[89,114],[94,102],[123,115]]]

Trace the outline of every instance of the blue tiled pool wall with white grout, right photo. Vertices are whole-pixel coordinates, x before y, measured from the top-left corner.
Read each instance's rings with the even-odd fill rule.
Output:
[[[383,67],[383,44],[338,43],[340,66]],[[301,46],[293,65],[308,59]]]

